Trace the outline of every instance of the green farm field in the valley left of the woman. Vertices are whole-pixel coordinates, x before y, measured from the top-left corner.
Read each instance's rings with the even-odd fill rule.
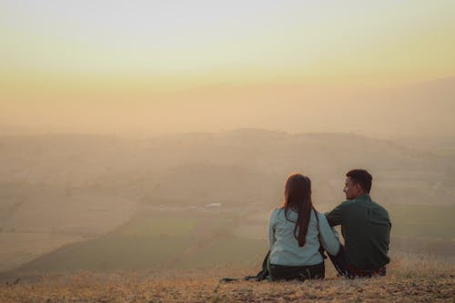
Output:
[[[232,217],[139,216],[112,232],[56,249],[21,272],[114,271],[141,268],[244,266],[267,252],[262,239],[235,237]]]

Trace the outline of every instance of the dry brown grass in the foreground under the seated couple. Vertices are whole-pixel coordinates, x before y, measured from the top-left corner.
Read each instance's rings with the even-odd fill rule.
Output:
[[[331,265],[324,280],[218,282],[256,269],[144,271],[7,277],[1,302],[454,302],[455,266],[396,256],[385,278],[344,279]]]

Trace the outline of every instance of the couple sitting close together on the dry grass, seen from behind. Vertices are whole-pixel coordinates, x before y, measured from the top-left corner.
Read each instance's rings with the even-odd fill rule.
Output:
[[[341,276],[386,275],[389,214],[369,197],[372,177],[366,170],[351,170],[346,177],[347,201],[325,215],[313,207],[309,178],[288,177],[283,206],[268,222],[267,269],[272,280],[324,278],[324,249]],[[344,246],[331,228],[338,225]]]

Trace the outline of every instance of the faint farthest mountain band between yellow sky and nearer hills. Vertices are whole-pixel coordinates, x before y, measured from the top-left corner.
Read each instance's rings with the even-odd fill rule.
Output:
[[[39,121],[48,121],[49,125],[43,126],[35,118],[30,119],[27,133],[72,131],[147,137],[147,134],[192,132],[192,136],[210,136],[207,134],[214,130],[252,127],[231,135],[243,136],[240,134],[255,129],[279,129],[292,134],[353,132],[380,137],[455,136],[452,117],[455,77],[397,87],[206,86],[169,92],[156,99],[161,101],[139,102],[133,98],[127,103],[98,106],[97,110],[75,105],[61,115],[56,115],[54,108],[43,105],[35,115],[40,116]],[[15,115],[20,115],[20,111]],[[11,114],[7,117],[11,120],[4,119],[3,123],[15,124],[20,116]],[[27,121],[24,116],[20,118]],[[22,131],[11,129],[1,134],[22,135]]]

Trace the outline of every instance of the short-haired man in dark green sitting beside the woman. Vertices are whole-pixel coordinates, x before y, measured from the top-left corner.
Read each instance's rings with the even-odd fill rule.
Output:
[[[364,169],[350,170],[343,189],[347,201],[326,213],[331,227],[341,225],[345,240],[337,256],[329,258],[348,278],[385,276],[389,263],[389,213],[369,197],[371,180]]]

